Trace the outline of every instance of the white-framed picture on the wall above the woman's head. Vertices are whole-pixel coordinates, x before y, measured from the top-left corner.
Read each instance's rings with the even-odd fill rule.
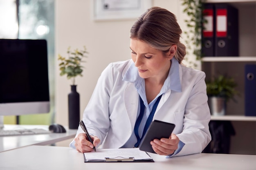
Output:
[[[152,6],[152,0],[92,0],[94,20],[135,19]]]

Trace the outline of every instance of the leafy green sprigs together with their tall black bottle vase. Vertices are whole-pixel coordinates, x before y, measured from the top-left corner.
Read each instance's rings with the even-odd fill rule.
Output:
[[[58,55],[60,61],[60,75],[67,75],[67,79],[72,80],[71,93],[68,94],[68,117],[69,117],[69,128],[77,129],[80,121],[80,95],[76,91],[75,78],[76,76],[82,75],[83,66],[81,65],[85,54],[88,53],[86,47],[83,50],[75,49],[71,51],[70,47],[67,49],[67,58],[62,55]]]

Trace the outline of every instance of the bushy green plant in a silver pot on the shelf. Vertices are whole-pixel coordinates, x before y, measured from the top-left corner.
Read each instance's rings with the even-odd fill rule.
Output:
[[[225,115],[227,101],[238,94],[234,78],[220,75],[213,81],[207,81],[206,86],[211,115]]]

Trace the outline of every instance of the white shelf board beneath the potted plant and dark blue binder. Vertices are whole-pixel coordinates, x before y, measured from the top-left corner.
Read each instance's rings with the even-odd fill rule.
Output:
[[[211,116],[211,120],[227,120],[227,121],[256,121],[256,116]]]

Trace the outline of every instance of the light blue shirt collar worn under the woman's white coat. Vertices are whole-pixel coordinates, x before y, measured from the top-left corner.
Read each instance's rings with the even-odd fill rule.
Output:
[[[164,84],[173,91],[181,92],[179,62],[174,57],[171,62],[171,68]],[[132,62],[126,73],[124,73],[123,81],[135,83],[135,87],[143,81],[143,78],[139,77],[138,69],[135,67],[134,62]],[[166,91],[166,89],[163,90]]]

